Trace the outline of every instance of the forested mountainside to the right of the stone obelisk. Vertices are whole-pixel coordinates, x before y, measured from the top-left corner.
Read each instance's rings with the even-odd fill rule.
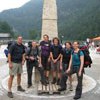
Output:
[[[57,0],[59,33],[67,39],[100,36],[100,0]]]

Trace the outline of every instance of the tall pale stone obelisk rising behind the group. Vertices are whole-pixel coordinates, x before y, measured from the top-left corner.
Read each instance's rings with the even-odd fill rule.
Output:
[[[48,34],[50,39],[58,37],[56,0],[43,1],[41,39],[43,38],[44,34]]]

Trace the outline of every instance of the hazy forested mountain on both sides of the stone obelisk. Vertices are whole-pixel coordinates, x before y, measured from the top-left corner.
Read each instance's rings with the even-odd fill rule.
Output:
[[[100,35],[100,0],[57,0],[59,37],[80,39]],[[0,13],[25,38],[29,31],[41,33],[43,0],[31,0],[17,9]]]

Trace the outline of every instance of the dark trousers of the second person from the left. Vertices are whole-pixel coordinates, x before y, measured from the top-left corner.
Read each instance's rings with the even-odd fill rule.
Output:
[[[45,81],[44,69],[43,69],[43,67],[38,67],[38,61],[34,61],[34,62],[27,61],[26,65],[27,65],[28,85],[32,85],[33,67],[38,69],[40,76],[41,76],[41,81]]]

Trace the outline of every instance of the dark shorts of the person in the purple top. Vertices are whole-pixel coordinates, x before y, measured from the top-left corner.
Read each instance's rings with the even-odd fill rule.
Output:
[[[42,56],[41,57],[41,63],[42,63],[44,70],[50,71],[51,64],[50,64],[50,62],[48,62],[48,57]]]

